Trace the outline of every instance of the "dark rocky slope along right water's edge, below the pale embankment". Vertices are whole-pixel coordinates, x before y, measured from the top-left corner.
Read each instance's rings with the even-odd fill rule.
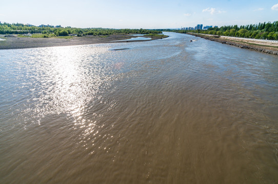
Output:
[[[259,52],[264,52],[264,53],[268,53],[268,54],[274,54],[274,55],[278,55],[278,49],[275,48],[267,48],[264,47],[263,45],[250,45],[248,43],[239,43],[239,42],[235,42],[235,41],[231,41],[231,40],[226,40],[226,39],[222,39],[222,38],[216,38],[216,37],[212,37],[212,36],[206,36],[206,35],[200,35],[200,34],[194,34],[194,33],[187,33],[193,36],[197,36],[197,37],[201,37],[201,38],[205,38],[211,41],[217,41],[223,44],[228,44],[228,45],[233,45],[235,47],[239,47],[242,49],[251,49],[254,51],[259,51]]]

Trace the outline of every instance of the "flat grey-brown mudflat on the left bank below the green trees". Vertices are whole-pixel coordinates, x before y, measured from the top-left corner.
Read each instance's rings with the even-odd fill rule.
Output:
[[[65,38],[31,38],[31,37],[4,37],[0,35],[0,38],[5,39],[0,41],[0,50],[4,49],[27,49],[27,48],[42,48],[42,47],[57,47],[57,46],[68,46],[68,45],[85,45],[94,43],[115,43],[118,42],[135,42],[135,41],[149,41],[155,39],[162,39],[163,36],[142,36],[149,37],[149,40],[126,40],[138,36],[132,34],[114,34],[109,36],[84,36],[84,37],[73,37],[69,39]],[[167,37],[167,36],[166,36]],[[111,42],[113,41],[113,42]]]

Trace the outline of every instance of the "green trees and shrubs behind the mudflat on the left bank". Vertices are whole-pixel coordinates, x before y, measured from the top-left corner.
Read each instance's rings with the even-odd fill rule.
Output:
[[[161,34],[162,31],[146,30],[146,29],[106,29],[106,28],[63,28],[61,26],[33,26],[24,24],[9,24],[4,22],[0,24],[0,34],[19,34],[26,36],[26,34],[39,34],[37,37],[60,37],[60,36],[106,36],[112,34]]]

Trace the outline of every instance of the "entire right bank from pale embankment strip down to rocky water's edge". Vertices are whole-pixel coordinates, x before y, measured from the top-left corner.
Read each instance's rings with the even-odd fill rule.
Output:
[[[272,43],[270,45],[267,42],[260,42],[260,41],[249,41],[249,40],[242,40],[242,39],[236,39],[236,38],[222,38],[222,37],[216,38],[213,36],[194,34],[194,33],[187,33],[187,34],[190,34],[193,36],[198,36],[198,37],[205,38],[205,39],[209,39],[211,41],[217,41],[220,43],[233,45],[235,47],[240,47],[243,49],[251,49],[254,51],[278,55],[278,45],[276,45],[276,43]]]

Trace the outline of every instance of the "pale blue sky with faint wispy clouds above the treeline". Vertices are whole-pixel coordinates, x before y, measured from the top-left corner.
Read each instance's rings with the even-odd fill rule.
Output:
[[[4,1],[0,21],[78,28],[181,28],[247,25],[278,20],[276,1]]]

